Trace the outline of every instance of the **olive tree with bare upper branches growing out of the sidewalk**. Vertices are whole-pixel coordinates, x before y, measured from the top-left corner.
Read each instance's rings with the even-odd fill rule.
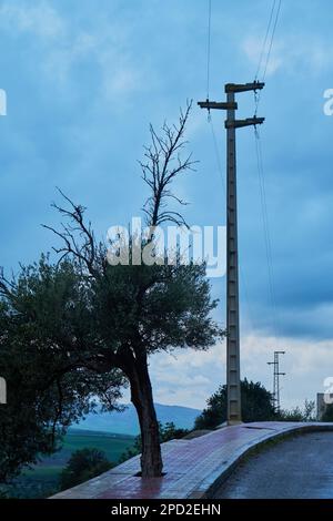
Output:
[[[150,190],[143,208],[150,233],[141,246],[151,248],[152,257],[157,226],[185,225],[182,214],[171,207],[172,202],[185,204],[171,191],[171,185],[179,175],[193,170],[191,155],[183,157],[182,154],[190,109],[188,104],[176,125],[164,123],[160,135],[150,127],[151,145],[145,147],[144,161],[140,163],[143,181]],[[120,380],[125,378],[141,428],[142,477],[161,476],[163,462],[149,359],[157,353],[175,348],[208,349],[222,335],[211,316],[216,300],[210,295],[205,264],[183,264],[181,255],[169,262],[167,252],[162,262],[159,257],[159,262],[150,265],[110,263],[109,245],[97,241],[91,223],[85,219],[85,208],[62,195],[64,204],[53,205],[61,214],[62,227],[47,226],[61,239],[54,247],[58,264],[47,264],[53,277],[51,289],[37,268],[32,279],[28,277],[28,304],[17,303],[19,286],[16,282],[8,284],[2,278],[2,293],[11,303],[13,314],[18,306],[26,313],[26,306],[33,303],[33,315],[29,316],[30,346],[51,349],[51,358],[60,354],[56,366],[51,366],[52,381],[54,375],[61,374],[62,378],[84,375],[85,390],[89,388],[102,400],[105,394],[111,394],[114,406]],[[135,241],[131,237],[128,244],[130,259]],[[63,269],[73,278],[73,287],[61,282],[61,277],[56,283]],[[36,287],[33,277],[38,280]],[[53,290],[57,296],[59,288],[63,292],[60,302],[53,296]],[[67,313],[62,314],[61,309]],[[58,377],[53,384],[59,384]],[[58,419],[61,422],[61,418]]]

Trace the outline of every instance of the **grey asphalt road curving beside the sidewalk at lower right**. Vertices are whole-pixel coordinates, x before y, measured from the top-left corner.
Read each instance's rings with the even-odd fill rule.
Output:
[[[333,432],[280,441],[249,457],[216,499],[333,498]]]

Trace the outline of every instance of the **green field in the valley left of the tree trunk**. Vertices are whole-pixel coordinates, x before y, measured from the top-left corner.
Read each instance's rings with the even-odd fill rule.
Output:
[[[63,440],[60,451],[44,458],[33,469],[26,470],[8,488],[16,498],[44,498],[58,491],[59,476],[72,452],[85,447],[103,450],[108,459],[118,463],[120,456],[132,447],[134,438],[127,435],[112,435],[89,430],[71,430]]]

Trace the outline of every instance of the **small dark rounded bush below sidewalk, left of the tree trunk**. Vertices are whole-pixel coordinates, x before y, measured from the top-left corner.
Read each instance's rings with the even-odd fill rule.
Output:
[[[72,453],[61,472],[60,489],[65,490],[83,483],[114,467],[99,449],[85,448]]]

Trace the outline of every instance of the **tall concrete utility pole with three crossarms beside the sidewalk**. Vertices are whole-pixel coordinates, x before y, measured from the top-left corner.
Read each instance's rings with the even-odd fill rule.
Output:
[[[228,423],[242,421],[241,376],[240,376],[240,317],[239,317],[239,252],[238,252],[238,203],[236,203],[236,143],[235,130],[242,126],[259,125],[264,118],[236,120],[235,93],[258,91],[264,83],[225,85],[226,102],[199,102],[201,109],[226,111],[226,387]]]

